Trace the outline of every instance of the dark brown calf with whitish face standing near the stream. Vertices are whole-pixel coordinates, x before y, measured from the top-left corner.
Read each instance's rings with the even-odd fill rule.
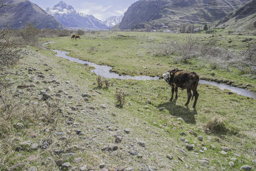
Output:
[[[188,101],[186,101],[185,105],[189,104],[191,97],[192,97],[192,100],[195,97],[193,108],[196,107],[197,99],[199,96],[199,93],[197,92],[199,76],[196,74],[196,72],[188,72],[188,71],[174,69],[166,72],[165,74],[162,74],[161,78],[164,78],[164,80],[170,86],[172,86],[172,97],[170,98],[170,101],[173,100],[174,90],[176,93],[175,99],[178,98],[178,95],[177,95],[178,87],[180,87],[181,89],[186,89],[188,93]],[[193,91],[193,96],[192,96],[191,90]]]

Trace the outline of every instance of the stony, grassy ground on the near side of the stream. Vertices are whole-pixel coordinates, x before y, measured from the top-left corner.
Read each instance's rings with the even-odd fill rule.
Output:
[[[86,65],[41,48],[25,54],[0,72],[13,83],[6,97],[13,99],[13,111],[1,115],[1,170],[256,168],[253,99],[200,85],[197,108],[192,102],[186,108],[186,92],[170,102],[162,80],[109,79],[112,87],[97,88]],[[116,107],[117,87],[128,93],[123,108]],[[216,116],[228,131],[205,133]]]

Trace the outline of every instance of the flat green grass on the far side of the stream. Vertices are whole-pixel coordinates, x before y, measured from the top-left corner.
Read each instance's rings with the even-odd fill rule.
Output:
[[[176,63],[171,56],[153,56],[150,48],[155,44],[169,42],[184,43],[192,36],[198,43],[207,44],[212,41],[208,34],[171,34],[161,32],[99,32],[98,34],[86,34],[80,40],[70,38],[43,39],[54,40],[55,43],[48,47],[70,52],[70,56],[88,60],[96,64],[112,66],[112,72],[125,75],[149,75],[159,76],[170,68],[181,68],[196,71],[202,79],[216,80],[218,82],[234,82],[234,86],[246,87],[256,91],[256,79],[242,76],[241,71],[230,67],[229,71],[224,69],[212,70],[210,64],[205,60],[192,58],[189,64]],[[254,36],[217,35],[214,37],[215,46],[229,48],[238,51],[245,50],[247,43],[245,38]],[[228,43],[229,40],[231,43]],[[90,47],[95,47],[94,52],[89,52]],[[214,72],[214,76],[212,76]]]

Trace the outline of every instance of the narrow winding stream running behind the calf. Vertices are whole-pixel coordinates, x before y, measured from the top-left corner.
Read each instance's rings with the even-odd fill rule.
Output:
[[[49,43],[53,43],[53,42],[47,42],[47,43],[44,43],[44,45],[49,44]],[[55,56],[68,59],[71,62],[76,62],[76,63],[80,63],[80,64],[88,64],[88,66],[94,67],[95,69],[91,70],[91,72],[94,72],[95,74],[100,75],[104,78],[133,79],[133,80],[158,80],[159,79],[159,77],[157,77],[157,76],[156,77],[151,77],[151,76],[119,75],[119,74],[116,74],[115,72],[110,72],[112,67],[102,66],[102,65],[98,65],[98,64],[95,64],[95,63],[92,63],[92,62],[88,62],[86,60],[80,60],[78,58],[73,58],[73,57],[67,56],[69,54],[69,52],[66,52],[66,51],[60,51],[60,50],[51,50],[51,51],[56,52]],[[228,89],[229,91],[237,93],[238,95],[251,97],[251,98],[256,100],[256,92],[252,92],[252,91],[247,90],[247,89],[233,87],[233,86],[229,86],[227,84],[222,84],[222,83],[217,83],[217,82],[210,82],[210,81],[206,81],[206,80],[200,80],[199,83],[200,84],[208,84],[208,85],[211,85],[211,86],[216,86],[216,87],[218,87],[222,90]]]

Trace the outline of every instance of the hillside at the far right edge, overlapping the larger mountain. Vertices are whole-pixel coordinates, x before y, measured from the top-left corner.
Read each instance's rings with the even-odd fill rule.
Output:
[[[218,23],[218,27],[235,32],[256,32],[256,0],[227,15]]]

